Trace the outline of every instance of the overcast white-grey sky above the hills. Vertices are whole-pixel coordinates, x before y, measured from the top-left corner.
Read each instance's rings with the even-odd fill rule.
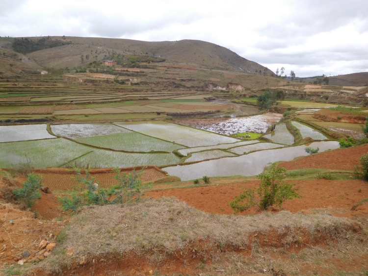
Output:
[[[0,36],[215,43],[273,72],[368,72],[368,0],[0,0]]]

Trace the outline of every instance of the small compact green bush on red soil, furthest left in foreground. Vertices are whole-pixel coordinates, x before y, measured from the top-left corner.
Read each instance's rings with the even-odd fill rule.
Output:
[[[40,189],[42,187],[42,178],[34,173],[29,174],[27,177],[27,180],[23,183],[23,187],[14,190],[14,197],[25,207],[30,208],[41,198]]]

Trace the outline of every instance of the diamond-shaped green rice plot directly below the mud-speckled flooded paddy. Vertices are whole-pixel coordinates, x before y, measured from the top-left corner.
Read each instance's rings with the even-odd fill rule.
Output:
[[[118,127],[118,126],[117,126]],[[122,127],[119,127],[122,128]],[[172,152],[183,148],[181,145],[143,135],[138,132],[122,128],[126,132],[103,136],[78,138],[76,141],[100,148],[117,151],[168,151]]]

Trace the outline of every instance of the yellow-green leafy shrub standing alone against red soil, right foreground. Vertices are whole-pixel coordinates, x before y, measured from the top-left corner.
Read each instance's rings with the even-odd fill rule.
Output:
[[[234,201],[229,202],[234,213],[246,211],[251,207],[257,207],[259,210],[267,210],[270,206],[281,208],[284,201],[301,198],[297,194],[298,189],[293,188],[294,184],[283,181],[286,172],[284,168],[277,168],[276,163],[271,164],[269,172],[263,172],[257,176],[261,179],[258,188],[247,189],[239,196],[234,197]],[[258,198],[256,198],[256,193]]]

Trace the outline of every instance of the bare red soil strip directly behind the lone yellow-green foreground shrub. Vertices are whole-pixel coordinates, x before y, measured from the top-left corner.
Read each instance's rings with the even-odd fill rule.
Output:
[[[356,202],[368,198],[367,182],[362,180],[293,180],[290,183],[296,184],[295,188],[300,189],[299,194],[302,199],[286,201],[283,207],[291,212],[297,212],[310,208],[334,208],[350,210]],[[185,201],[190,206],[199,210],[218,213],[231,214],[232,209],[228,202],[233,201],[244,188],[253,189],[259,181],[247,181],[235,184],[221,184],[216,186],[204,186],[186,189],[169,189],[151,191],[146,196],[152,198],[174,196],[181,201]],[[361,189],[361,192],[359,192]],[[255,213],[251,210],[248,213]],[[244,213],[245,214],[245,213]],[[342,211],[341,216],[351,216],[352,214],[368,215],[368,206],[362,205],[357,211]]]

